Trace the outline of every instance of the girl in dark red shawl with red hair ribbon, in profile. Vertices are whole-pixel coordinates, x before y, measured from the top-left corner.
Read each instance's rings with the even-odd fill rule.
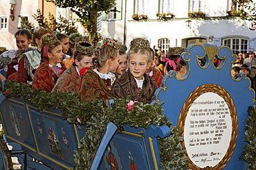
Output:
[[[42,39],[42,59],[43,62],[37,68],[33,78],[32,87],[51,92],[57,78],[66,70],[62,63],[62,44],[55,34],[49,34]]]

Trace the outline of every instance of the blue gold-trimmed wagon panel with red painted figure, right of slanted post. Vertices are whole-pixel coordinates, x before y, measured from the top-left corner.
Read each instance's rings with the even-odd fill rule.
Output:
[[[99,169],[111,169],[109,154],[115,157],[118,169],[160,169],[158,167],[158,142],[157,138],[149,136],[156,135],[152,130],[143,129],[143,134],[138,132],[143,128],[134,128],[125,125],[125,131],[116,132],[110,146],[111,151],[106,149]],[[149,136],[145,136],[147,134]]]

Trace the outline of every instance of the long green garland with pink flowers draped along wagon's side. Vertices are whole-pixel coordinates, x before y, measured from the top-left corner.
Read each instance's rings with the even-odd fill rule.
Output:
[[[75,169],[90,169],[107,123],[113,122],[118,127],[130,125],[131,127],[144,127],[149,125],[167,125],[170,127],[171,135],[167,138],[159,138],[159,154],[162,169],[186,169],[187,158],[181,146],[179,130],[172,127],[167,117],[163,114],[161,105],[136,102],[130,111],[127,111],[127,103],[131,98],[114,99],[109,105],[107,100],[93,100],[91,102],[80,102],[73,92],[71,93],[46,93],[39,89],[32,89],[30,85],[6,81],[6,92],[13,98],[21,98],[31,103],[39,111],[48,108],[60,109],[62,116],[68,123],[75,123],[78,127],[86,124],[86,134],[78,143],[78,149],[74,153]]]

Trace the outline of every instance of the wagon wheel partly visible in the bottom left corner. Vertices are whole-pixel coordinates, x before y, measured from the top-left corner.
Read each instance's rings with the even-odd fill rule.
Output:
[[[6,141],[0,135],[0,169],[13,170],[12,158]]]

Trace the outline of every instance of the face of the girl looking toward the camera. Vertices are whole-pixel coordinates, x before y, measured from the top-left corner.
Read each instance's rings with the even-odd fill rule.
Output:
[[[129,59],[129,71],[137,80],[143,80],[143,74],[147,71],[149,61],[147,56],[132,54]]]

